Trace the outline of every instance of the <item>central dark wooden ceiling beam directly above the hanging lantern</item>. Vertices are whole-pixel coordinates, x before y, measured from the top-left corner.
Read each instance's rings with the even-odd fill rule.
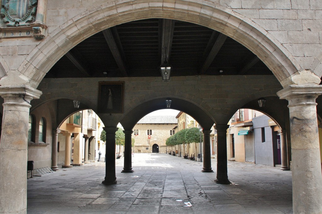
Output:
[[[164,61],[169,61],[173,32],[175,28],[175,20],[163,19],[162,21],[162,36],[161,36],[161,64]]]

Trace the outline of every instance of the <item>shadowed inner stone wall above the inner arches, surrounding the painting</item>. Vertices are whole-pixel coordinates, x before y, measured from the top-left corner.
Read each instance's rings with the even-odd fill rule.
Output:
[[[161,77],[58,78],[43,79],[38,87],[43,95],[40,99],[32,100],[32,105],[40,105],[49,99],[77,97],[81,104],[96,111],[98,87],[95,86],[99,81],[125,82],[124,112],[150,99],[176,97],[189,99],[192,103],[200,105],[220,124],[228,123],[232,114],[251,100],[276,96],[276,92],[282,89],[278,80],[272,75],[171,77],[171,81],[166,83]],[[194,114],[197,113],[189,114],[195,117]],[[113,116],[120,118],[122,115]],[[102,117],[101,119],[103,120]],[[221,119],[224,121],[220,121]],[[105,125],[108,126],[108,124]]]

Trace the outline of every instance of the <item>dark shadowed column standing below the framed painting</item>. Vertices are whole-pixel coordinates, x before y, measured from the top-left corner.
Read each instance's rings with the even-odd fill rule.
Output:
[[[106,163],[105,163],[105,179],[103,184],[116,184],[115,175],[115,132],[118,127],[103,127],[106,132]]]

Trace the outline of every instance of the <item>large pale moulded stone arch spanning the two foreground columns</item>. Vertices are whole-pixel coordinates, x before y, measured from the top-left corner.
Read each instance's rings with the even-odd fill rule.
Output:
[[[140,4],[139,4],[140,3]],[[215,3],[201,1],[164,2],[153,5],[139,1],[105,3],[76,15],[54,30],[25,61],[24,74],[36,88],[48,70],[71,48],[106,28],[147,18],[167,18],[191,22],[219,31],[251,50],[273,72],[283,87],[301,68],[289,51],[267,31],[248,18]],[[0,81],[1,84],[1,81]]]

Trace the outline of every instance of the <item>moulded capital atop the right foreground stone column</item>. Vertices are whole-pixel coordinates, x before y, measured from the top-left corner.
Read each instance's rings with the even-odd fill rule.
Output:
[[[289,85],[277,92],[280,99],[293,99],[299,97],[317,98],[322,94],[322,85]]]

